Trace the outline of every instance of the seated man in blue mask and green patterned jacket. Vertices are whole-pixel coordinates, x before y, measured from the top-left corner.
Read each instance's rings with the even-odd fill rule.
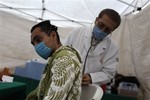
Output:
[[[81,94],[81,60],[78,52],[62,46],[57,27],[43,21],[31,29],[35,51],[48,63],[38,87],[26,100],[79,100]]]

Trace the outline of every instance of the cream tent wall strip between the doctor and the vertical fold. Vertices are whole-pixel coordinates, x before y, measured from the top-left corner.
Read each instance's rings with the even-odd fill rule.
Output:
[[[118,73],[123,75],[135,75],[128,18],[121,20],[121,25],[112,33],[111,39],[119,47]]]

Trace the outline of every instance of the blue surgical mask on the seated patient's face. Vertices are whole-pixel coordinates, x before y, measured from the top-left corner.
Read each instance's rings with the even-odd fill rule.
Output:
[[[36,52],[44,59],[48,59],[48,57],[52,53],[52,49],[47,47],[44,42],[40,42],[34,46]]]

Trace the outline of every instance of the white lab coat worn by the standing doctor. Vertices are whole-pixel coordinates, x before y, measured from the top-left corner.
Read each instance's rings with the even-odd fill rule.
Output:
[[[92,26],[77,28],[69,34],[65,42],[66,45],[71,45],[79,50],[83,61],[82,66],[91,46],[92,30]],[[84,73],[90,74],[92,83],[101,85],[113,78],[118,64],[117,54],[117,47],[108,37],[89,52]]]

